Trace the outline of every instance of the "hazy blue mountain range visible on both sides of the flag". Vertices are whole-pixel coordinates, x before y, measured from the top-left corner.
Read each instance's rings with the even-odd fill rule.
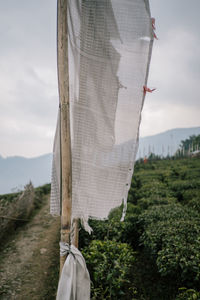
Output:
[[[140,138],[137,158],[153,152],[160,156],[173,155],[182,140],[199,135],[200,127],[172,129]],[[35,158],[0,156],[0,194],[23,189],[30,180],[34,186],[51,181],[52,154]]]

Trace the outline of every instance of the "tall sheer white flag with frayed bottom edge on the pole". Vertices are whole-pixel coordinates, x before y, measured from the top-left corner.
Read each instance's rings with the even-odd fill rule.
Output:
[[[126,204],[153,44],[148,0],[68,0],[72,219]],[[60,214],[60,122],[51,213]]]

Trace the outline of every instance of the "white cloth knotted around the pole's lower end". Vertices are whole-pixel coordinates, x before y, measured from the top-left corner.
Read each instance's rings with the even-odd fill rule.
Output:
[[[69,254],[62,269],[56,300],[89,300],[90,275],[81,252],[62,242],[60,252],[61,256]]]

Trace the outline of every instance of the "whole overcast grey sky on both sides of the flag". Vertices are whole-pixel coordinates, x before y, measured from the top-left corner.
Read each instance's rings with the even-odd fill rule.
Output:
[[[140,134],[200,126],[200,1],[150,0],[156,33]],[[56,0],[0,0],[0,155],[52,151]]]

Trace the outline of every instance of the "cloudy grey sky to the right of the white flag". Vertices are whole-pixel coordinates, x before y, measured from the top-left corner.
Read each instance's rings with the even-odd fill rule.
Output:
[[[198,0],[150,0],[159,40],[154,43],[141,135],[199,126],[200,27]]]

